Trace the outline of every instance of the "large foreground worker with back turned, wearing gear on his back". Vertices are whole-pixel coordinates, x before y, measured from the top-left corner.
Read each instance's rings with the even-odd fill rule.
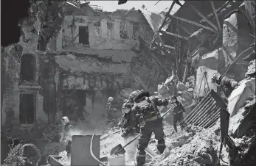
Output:
[[[145,148],[151,140],[151,134],[154,133],[158,140],[157,149],[160,154],[165,151],[165,138],[162,117],[157,107],[167,106],[168,101],[163,98],[150,96],[149,92],[140,93],[135,99],[134,111],[136,118],[139,118],[140,134],[139,145],[137,146],[136,165],[145,165],[146,153]],[[138,121],[138,120],[137,120]]]

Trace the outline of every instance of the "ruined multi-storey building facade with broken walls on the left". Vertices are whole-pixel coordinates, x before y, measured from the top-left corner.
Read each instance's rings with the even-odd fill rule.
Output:
[[[80,8],[66,4],[62,29],[46,52],[37,51],[32,28],[23,29],[20,43],[2,50],[9,83],[1,124],[13,134],[13,129],[21,129],[22,138],[30,137],[24,130],[54,123],[63,115],[94,119],[91,126],[97,126],[105,118],[108,97],[114,97],[119,108],[125,92],[153,92],[166,78],[156,60],[141,51],[139,37],[150,43],[153,30],[134,8],[103,12],[86,3]]]

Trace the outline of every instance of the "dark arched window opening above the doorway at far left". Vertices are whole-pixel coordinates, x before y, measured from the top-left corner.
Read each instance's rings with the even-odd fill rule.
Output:
[[[21,57],[21,82],[35,81],[35,57],[32,54],[24,54]]]

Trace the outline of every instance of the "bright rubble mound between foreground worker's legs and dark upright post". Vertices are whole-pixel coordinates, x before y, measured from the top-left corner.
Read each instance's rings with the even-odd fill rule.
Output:
[[[215,127],[215,126],[214,126]],[[187,133],[173,139],[161,156],[149,165],[212,165],[219,137],[215,130],[188,126]]]

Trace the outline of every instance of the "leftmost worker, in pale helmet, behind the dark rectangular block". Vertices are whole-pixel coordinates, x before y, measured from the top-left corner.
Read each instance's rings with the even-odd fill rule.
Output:
[[[63,145],[66,145],[66,153],[68,156],[68,159],[70,159],[71,156],[71,141],[72,141],[72,135],[70,131],[72,130],[73,126],[69,122],[69,118],[63,117],[61,119],[61,123],[63,124],[63,131],[61,133],[60,142]]]

